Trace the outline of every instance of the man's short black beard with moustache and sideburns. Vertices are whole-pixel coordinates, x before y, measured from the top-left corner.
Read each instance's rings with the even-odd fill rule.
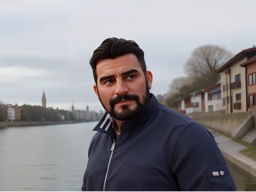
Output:
[[[101,102],[102,106],[106,110],[106,107],[103,105],[101,97],[99,95],[98,91],[98,86],[97,86],[97,92],[98,92],[98,97],[99,101]],[[150,100],[150,89],[149,89],[149,84],[146,80],[146,91],[145,91],[145,96],[142,96],[143,102],[141,102],[141,98],[139,98],[138,95],[136,94],[124,94],[124,95],[118,95],[113,99],[110,99],[109,104],[110,104],[110,111],[107,111],[113,118],[119,120],[119,121],[127,121],[130,120],[140,113],[145,109],[147,104],[149,103]],[[122,100],[134,100],[137,104],[135,109],[129,109],[128,105],[123,105],[122,106],[122,111],[120,113],[116,112],[114,110],[114,105]]]

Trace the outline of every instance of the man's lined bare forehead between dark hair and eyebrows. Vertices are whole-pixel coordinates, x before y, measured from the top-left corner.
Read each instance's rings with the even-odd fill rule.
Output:
[[[96,65],[96,72],[98,78],[102,75],[118,75],[122,72],[136,69],[142,72],[141,65],[134,54],[127,54],[115,59],[105,59],[98,61]]]

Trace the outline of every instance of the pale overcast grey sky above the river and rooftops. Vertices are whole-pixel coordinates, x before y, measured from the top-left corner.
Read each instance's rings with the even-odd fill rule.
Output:
[[[131,39],[165,94],[203,44],[237,54],[256,45],[255,0],[0,0],[0,100],[102,109],[89,59],[109,37]]]

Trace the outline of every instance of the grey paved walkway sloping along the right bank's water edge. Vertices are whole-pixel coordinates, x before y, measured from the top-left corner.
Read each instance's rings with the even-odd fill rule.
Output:
[[[225,158],[256,177],[256,161],[239,152],[247,147],[232,141],[231,138],[225,137],[212,129],[207,129],[213,135]]]

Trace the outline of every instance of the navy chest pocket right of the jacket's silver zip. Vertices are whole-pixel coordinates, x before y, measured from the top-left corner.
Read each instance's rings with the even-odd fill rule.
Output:
[[[158,172],[121,165],[117,191],[158,191]]]

